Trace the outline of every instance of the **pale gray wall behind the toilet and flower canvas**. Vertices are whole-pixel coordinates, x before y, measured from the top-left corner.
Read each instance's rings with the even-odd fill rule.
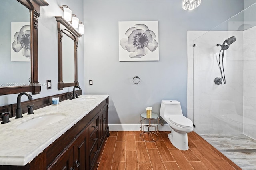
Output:
[[[180,101],[186,116],[187,31],[210,30],[243,8],[242,0],[203,0],[192,11],[182,0],[84,1],[85,93],[110,95],[109,124],[138,124],[147,106],[159,113],[161,100]],[[159,21],[159,61],[119,62],[118,21]]]

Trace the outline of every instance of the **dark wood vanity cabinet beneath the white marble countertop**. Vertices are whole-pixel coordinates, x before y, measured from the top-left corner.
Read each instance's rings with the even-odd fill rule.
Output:
[[[1,170],[92,170],[108,136],[108,98],[25,166]]]

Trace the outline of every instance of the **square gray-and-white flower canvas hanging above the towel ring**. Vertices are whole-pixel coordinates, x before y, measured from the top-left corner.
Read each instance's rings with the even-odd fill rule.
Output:
[[[159,61],[158,21],[120,21],[119,61]]]

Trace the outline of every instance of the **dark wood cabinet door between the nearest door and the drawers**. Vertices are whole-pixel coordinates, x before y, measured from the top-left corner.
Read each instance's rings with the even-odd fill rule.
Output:
[[[88,128],[86,128],[74,143],[74,168],[75,170],[88,170]]]

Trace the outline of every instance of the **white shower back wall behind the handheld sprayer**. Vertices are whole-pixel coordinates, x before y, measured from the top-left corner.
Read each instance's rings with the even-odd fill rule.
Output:
[[[194,120],[198,134],[242,134],[243,31],[204,33],[188,32],[188,118]],[[220,47],[216,44],[231,36],[236,37],[236,42],[225,51],[226,84],[216,85],[214,78],[221,77],[217,62]]]

